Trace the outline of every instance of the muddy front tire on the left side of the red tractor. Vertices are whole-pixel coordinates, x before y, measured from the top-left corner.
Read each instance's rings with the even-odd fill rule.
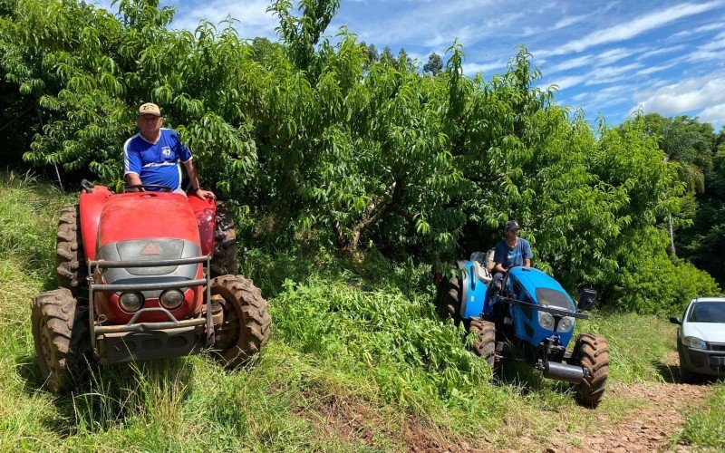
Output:
[[[88,309],[67,288],[33,298],[31,321],[35,353],[48,390],[61,393],[81,381],[91,351]]]

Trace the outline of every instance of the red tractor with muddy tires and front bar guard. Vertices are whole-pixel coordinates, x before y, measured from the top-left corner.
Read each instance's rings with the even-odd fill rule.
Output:
[[[54,392],[87,362],[146,361],[208,348],[228,367],[259,352],[267,303],[236,272],[230,217],[213,200],[169,188],[113,194],[82,183],[63,207],[56,241],[59,289],[33,299],[35,352]],[[161,191],[150,191],[161,189]]]

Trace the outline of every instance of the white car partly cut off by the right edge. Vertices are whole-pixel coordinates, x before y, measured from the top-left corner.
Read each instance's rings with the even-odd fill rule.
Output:
[[[725,377],[725,297],[692,299],[680,324],[677,352],[680,354],[682,381],[698,375]]]

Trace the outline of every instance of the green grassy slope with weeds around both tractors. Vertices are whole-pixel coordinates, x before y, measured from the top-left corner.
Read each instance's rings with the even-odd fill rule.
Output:
[[[204,355],[108,366],[53,396],[39,381],[30,300],[55,285],[55,222],[73,200],[0,174],[0,450],[536,450],[531,442],[554,429],[597,422],[566,385],[525,366],[508,366],[492,384],[463,333],[435,317],[427,268],[393,265],[374,250],[352,263],[316,246],[250,251],[245,273],[274,322],[254,366],[228,372]],[[607,336],[610,385],[672,380],[663,365],[672,324],[600,314],[578,326]],[[596,411],[617,419],[633,404],[605,397]],[[686,439],[698,443],[705,422],[691,417]]]

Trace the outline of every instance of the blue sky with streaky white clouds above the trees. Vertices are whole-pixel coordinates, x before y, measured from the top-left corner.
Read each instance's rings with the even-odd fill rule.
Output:
[[[175,5],[173,28],[193,29],[201,17],[240,21],[244,37],[276,39],[268,0],[162,1]],[[686,114],[725,124],[725,0],[575,2],[539,0],[342,0],[328,28],[341,26],[382,51],[402,48],[420,65],[443,56],[458,39],[464,72],[490,77],[525,44],[556,84],[556,102],[618,124],[633,111]]]

